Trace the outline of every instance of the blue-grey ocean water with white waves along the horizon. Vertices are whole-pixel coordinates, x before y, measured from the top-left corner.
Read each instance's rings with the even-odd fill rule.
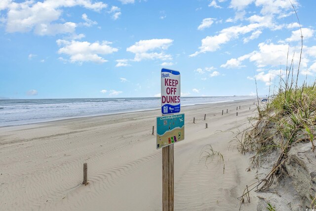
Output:
[[[181,97],[181,106],[251,99],[253,96]],[[0,127],[76,117],[160,109],[160,97],[0,99]]]

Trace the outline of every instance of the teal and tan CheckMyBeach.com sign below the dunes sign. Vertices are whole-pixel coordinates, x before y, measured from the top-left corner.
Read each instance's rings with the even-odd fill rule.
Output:
[[[156,148],[184,140],[184,114],[156,118]]]

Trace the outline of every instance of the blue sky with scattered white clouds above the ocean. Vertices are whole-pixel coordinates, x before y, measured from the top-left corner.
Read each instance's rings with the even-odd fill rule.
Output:
[[[291,2],[313,82],[316,1]],[[0,98],[154,97],[162,67],[181,96],[252,95],[297,71],[301,31],[289,0],[1,0],[0,46]]]

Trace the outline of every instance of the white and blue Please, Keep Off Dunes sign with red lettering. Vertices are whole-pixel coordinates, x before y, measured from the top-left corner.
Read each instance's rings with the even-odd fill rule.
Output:
[[[161,113],[174,114],[180,112],[180,72],[161,69]]]

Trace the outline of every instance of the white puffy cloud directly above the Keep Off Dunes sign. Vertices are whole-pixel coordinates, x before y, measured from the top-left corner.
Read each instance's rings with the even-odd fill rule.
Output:
[[[126,51],[135,53],[134,61],[143,59],[171,60],[172,56],[165,54],[164,50],[168,49],[172,42],[173,40],[170,39],[141,40],[128,47]],[[154,50],[160,50],[160,53],[149,52]]]

